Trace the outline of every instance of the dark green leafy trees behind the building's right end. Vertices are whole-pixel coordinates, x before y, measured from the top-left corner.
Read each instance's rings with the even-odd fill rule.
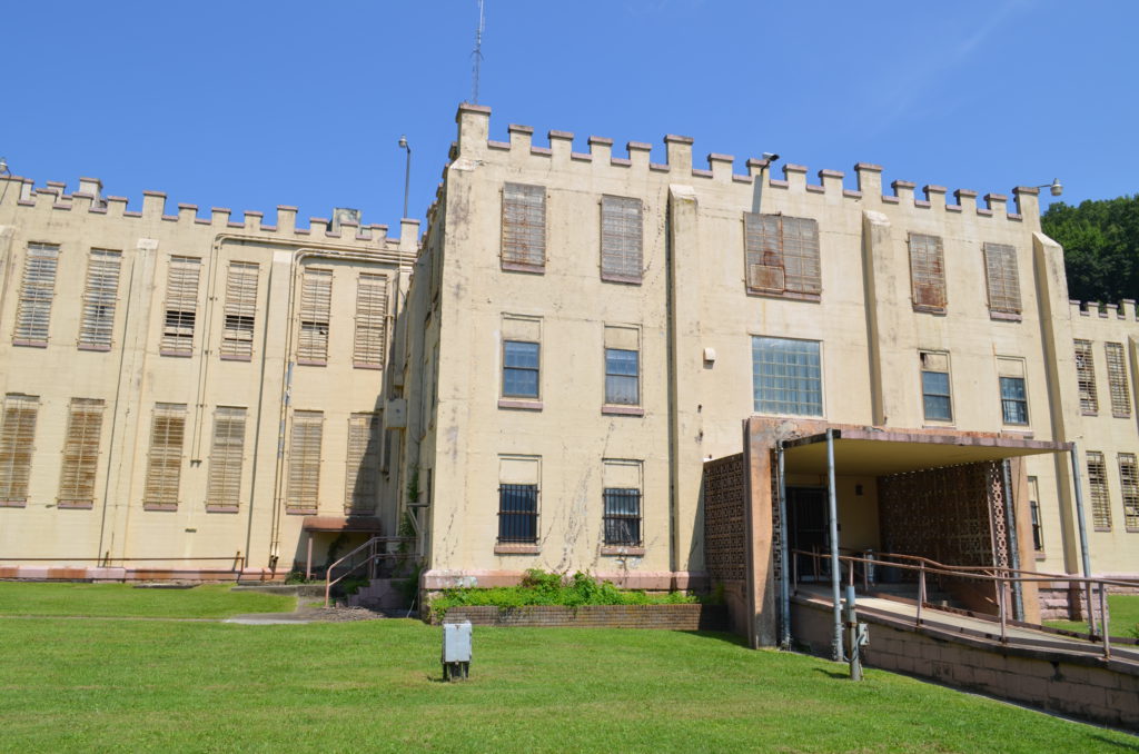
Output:
[[[1139,194],[1088,199],[1077,207],[1057,202],[1040,222],[1064,247],[1072,298],[1139,298]]]

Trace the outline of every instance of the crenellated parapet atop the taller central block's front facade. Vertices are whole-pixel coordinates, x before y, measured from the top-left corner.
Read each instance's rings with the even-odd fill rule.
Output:
[[[978,203],[977,191],[957,189],[953,203],[947,200],[949,190],[943,186],[926,185],[920,192],[910,181],[895,180],[892,191],[883,190],[883,169],[871,163],[854,165],[857,188],[844,186],[846,174],[836,170],[818,171],[818,182],[809,179],[810,170],[804,165],[785,164],[781,178],[773,175],[767,159],[748,158],[744,162],[746,172],[737,173],[732,155],[710,153],[707,167],[693,163],[693,139],[667,134],[664,137],[665,162],[650,162],[654,145],[644,141],[628,141],[624,149],[614,149],[614,140],[591,136],[587,139],[588,151],[574,151],[574,134],[567,131],[549,131],[548,146],[534,142],[534,129],[511,123],[507,126],[508,140],[490,138],[491,108],[484,105],[462,104],[456,121],[459,125],[458,141],[452,145],[451,159],[480,161],[494,155],[513,161],[543,161],[548,167],[566,167],[577,171],[640,171],[666,173],[672,182],[693,182],[697,188],[703,182],[713,185],[755,185],[762,182],[764,189],[785,190],[789,194],[811,194],[833,197],[835,200],[862,202],[865,204],[898,205],[912,210],[957,214],[960,216],[992,218],[1021,222],[1025,218],[1040,214],[1039,190],[1019,186],[1013,189],[1011,205],[1005,194],[985,194]]]

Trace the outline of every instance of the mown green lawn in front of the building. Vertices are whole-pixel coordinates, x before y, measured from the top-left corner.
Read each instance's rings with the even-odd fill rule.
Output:
[[[1116,731],[872,670],[853,683],[727,634],[477,626],[470,680],[442,683],[440,629],[413,621],[11,617],[59,609],[55,589],[74,615],[109,608],[93,588],[0,588],[5,752],[1139,752]],[[183,599],[190,617],[212,600],[136,593],[167,614]],[[252,612],[263,596],[229,597]]]

